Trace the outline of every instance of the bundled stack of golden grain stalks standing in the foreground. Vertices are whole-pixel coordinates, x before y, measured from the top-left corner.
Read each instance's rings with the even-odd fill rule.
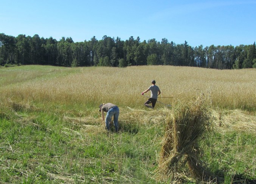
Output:
[[[185,176],[192,176],[204,181],[220,181],[200,161],[202,152],[198,143],[202,138],[207,138],[211,123],[207,109],[201,94],[195,101],[177,107],[167,118],[160,165],[157,169],[161,179],[171,178],[172,181],[178,181]],[[186,164],[190,175],[185,172]]]

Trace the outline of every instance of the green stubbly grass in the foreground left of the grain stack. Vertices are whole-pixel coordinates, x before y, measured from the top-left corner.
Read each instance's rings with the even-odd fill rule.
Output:
[[[9,113],[0,124],[3,182],[155,183],[161,128],[83,133],[55,114]]]

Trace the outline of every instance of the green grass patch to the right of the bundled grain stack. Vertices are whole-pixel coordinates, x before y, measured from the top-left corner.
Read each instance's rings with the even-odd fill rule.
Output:
[[[244,176],[254,179],[256,174],[256,136],[245,132],[216,132],[202,146],[205,162],[214,173]],[[207,146],[206,146],[207,145]]]

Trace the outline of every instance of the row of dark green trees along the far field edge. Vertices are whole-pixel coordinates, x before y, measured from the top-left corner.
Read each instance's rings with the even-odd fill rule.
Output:
[[[17,37],[0,34],[0,65],[41,64],[53,66],[113,66],[137,65],[196,66],[214,69],[256,68],[255,41],[251,45],[191,47],[160,41],[155,38],[140,41],[132,36],[128,40],[106,35],[101,40],[92,37],[74,42],[71,37],[59,41],[40,38],[39,35]]]

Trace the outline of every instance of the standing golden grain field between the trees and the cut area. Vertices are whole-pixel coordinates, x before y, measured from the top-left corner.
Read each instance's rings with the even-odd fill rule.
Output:
[[[22,67],[0,71],[0,77],[5,77],[4,83],[0,81],[2,98],[85,106],[111,102],[119,106],[142,107],[146,97],[141,92],[156,80],[162,92],[158,106],[175,106],[175,102],[189,100],[198,92],[208,95],[214,107],[254,111],[256,106],[256,69],[40,66],[40,70],[38,67],[23,70]],[[145,95],[150,96],[149,93]]]

